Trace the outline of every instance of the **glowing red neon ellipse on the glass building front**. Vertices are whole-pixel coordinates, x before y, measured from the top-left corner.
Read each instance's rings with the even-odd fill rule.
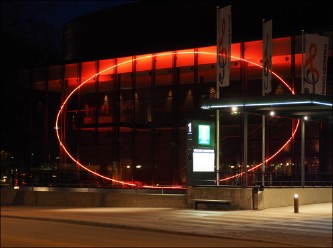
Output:
[[[143,60],[143,59],[151,59],[152,57],[160,57],[160,56],[169,56],[169,55],[173,55],[175,53],[173,52],[168,52],[168,53],[161,53],[161,54],[157,54],[157,55],[147,55],[147,56],[143,56],[143,57],[140,57],[140,58],[134,58],[134,59],[129,59],[127,61],[124,61],[124,62],[121,62],[121,63],[118,63],[116,65],[113,65],[113,66],[110,66],[94,75],[92,75],[91,77],[89,77],[87,80],[85,80],[81,85],[77,86],[76,88],[73,89],[72,92],[70,92],[68,94],[68,96],[66,97],[66,99],[63,101],[63,103],[61,104],[60,106],[60,109],[58,111],[58,114],[57,114],[57,118],[56,118],[56,123],[55,123],[55,130],[56,130],[56,134],[57,134],[57,138],[58,138],[58,141],[59,141],[59,144],[60,144],[60,147],[65,151],[65,153],[68,155],[68,157],[73,160],[73,162],[75,162],[77,165],[79,165],[81,168],[83,168],[84,170],[94,174],[95,176],[98,176],[98,177],[101,177],[103,179],[106,179],[106,180],[109,180],[109,181],[112,181],[114,183],[119,183],[119,184],[122,184],[122,185],[128,185],[128,186],[134,186],[136,187],[137,185],[136,184],[133,184],[133,183],[128,183],[128,182],[125,182],[125,181],[119,181],[119,180],[116,180],[116,179],[113,179],[113,178],[110,178],[110,177],[107,177],[107,176],[104,176],[104,175],[101,175],[95,171],[92,171],[90,170],[87,166],[83,165],[80,161],[78,161],[77,159],[75,159],[71,154],[70,152],[67,150],[66,146],[63,144],[61,138],[60,138],[60,134],[59,134],[59,118],[60,118],[60,115],[64,109],[64,106],[67,104],[67,102],[69,101],[69,99],[71,98],[71,96],[76,92],[78,91],[81,87],[83,87],[86,83],[88,83],[91,79],[93,79],[94,77],[96,77],[97,75],[100,75],[102,73],[105,73],[111,69],[114,69],[116,67],[119,67],[121,65],[125,65],[125,64],[128,64],[128,63],[132,63],[133,61],[137,61],[137,60]],[[203,54],[203,55],[211,55],[211,56],[216,56],[216,53],[214,52],[177,52],[176,54]],[[249,64],[252,64],[254,66],[257,66],[257,67],[260,67],[262,68],[261,65],[257,64],[257,63],[254,63],[252,61],[249,61],[249,60],[246,60],[246,59],[242,59],[242,58],[238,58],[238,57],[235,57],[235,56],[231,56],[233,59],[236,59],[236,60],[242,60],[242,61],[245,61]],[[291,91],[292,94],[295,94],[295,92],[291,89],[291,87],[279,76],[277,75],[275,72],[272,71],[272,74],[280,80],[280,82],[288,88],[288,90]],[[295,130],[293,131],[291,137],[283,144],[283,146],[278,149],[271,157],[269,157],[266,162],[270,161],[271,159],[273,159],[277,154],[279,154],[283,148],[294,138],[295,134],[296,134],[296,131],[298,130],[298,126],[299,126],[299,120],[296,124],[296,128]],[[255,170],[257,169],[258,167],[260,167],[262,165],[262,163],[258,164],[258,165],[255,165],[254,167],[252,167],[251,169],[249,169],[248,171],[252,171],[252,170]],[[230,180],[230,179],[233,179],[233,178],[236,178],[236,177],[239,177],[241,175],[243,175],[244,172],[241,172],[239,174],[236,174],[236,175],[233,175],[233,176],[230,176],[230,177],[226,177],[226,178],[222,178],[220,179],[220,181],[227,181],[227,180]],[[166,187],[158,187],[158,186],[143,186],[143,187],[148,187],[148,188],[166,188]],[[181,188],[179,186],[171,186],[170,188]]]

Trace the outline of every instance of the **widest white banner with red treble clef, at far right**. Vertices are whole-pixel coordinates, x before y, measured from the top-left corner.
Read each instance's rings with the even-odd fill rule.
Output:
[[[304,93],[326,95],[328,37],[305,34]]]

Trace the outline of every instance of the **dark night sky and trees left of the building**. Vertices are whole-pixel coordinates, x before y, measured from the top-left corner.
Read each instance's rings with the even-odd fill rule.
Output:
[[[0,124],[0,149],[8,150],[17,165],[29,164],[29,154],[37,149],[32,141],[39,140],[29,131],[35,126],[29,122],[30,93],[16,80],[15,71],[56,63],[61,56],[62,30],[72,19],[130,2],[1,0],[0,120],[6,121]]]

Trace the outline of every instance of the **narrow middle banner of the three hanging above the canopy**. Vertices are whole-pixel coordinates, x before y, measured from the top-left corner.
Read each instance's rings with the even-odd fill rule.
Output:
[[[262,87],[263,95],[272,91],[272,20],[263,24]]]

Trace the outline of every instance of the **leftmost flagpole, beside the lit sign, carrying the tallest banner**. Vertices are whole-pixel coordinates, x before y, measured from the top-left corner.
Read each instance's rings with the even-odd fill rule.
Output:
[[[216,63],[219,61],[219,6],[216,7]],[[216,67],[216,70],[218,68]],[[218,71],[217,71],[218,73]],[[220,86],[219,81],[216,79],[216,98],[220,98]],[[220,185],[220,110],[216,110],[216,186]]]

